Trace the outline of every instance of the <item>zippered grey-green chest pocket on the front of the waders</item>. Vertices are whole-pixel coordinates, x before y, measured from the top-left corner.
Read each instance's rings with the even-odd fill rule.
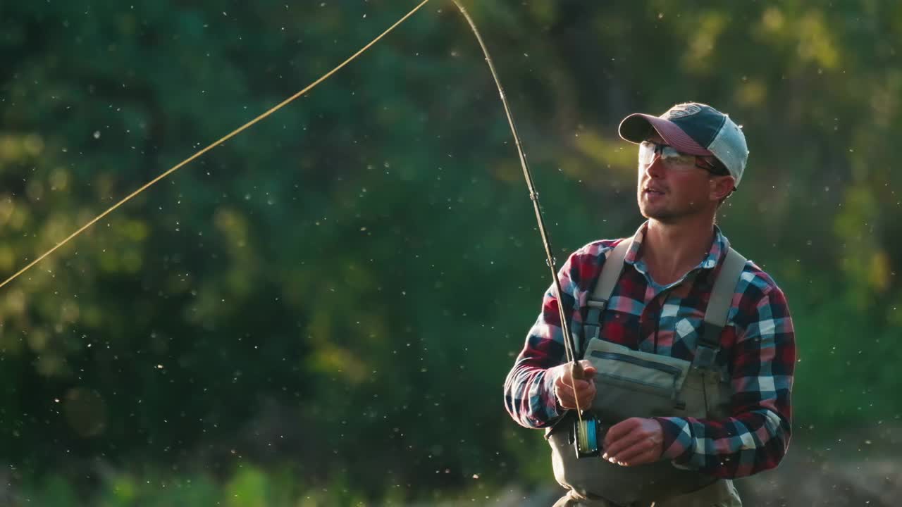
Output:
[[[592,340],[585,358],[598,370],[595,415],[607,423],[630,417],[665,417],[681,410],[680,390],[690,363]]]

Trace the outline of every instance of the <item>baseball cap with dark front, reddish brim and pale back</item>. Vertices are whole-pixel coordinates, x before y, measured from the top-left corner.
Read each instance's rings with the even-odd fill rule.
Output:
[[[713,156],[730,171],[736,187],[749,160],[749,148],[739,125],[729,115],[697,102],[677,104],[660,116],[634,113],[623,118],[619,132],[623,139],[637,144],[657,132],[678,152]]]

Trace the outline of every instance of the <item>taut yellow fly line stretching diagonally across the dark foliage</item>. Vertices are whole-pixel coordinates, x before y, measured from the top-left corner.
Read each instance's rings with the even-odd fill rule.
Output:
[[[304,88],[304,89],[300,90],[298,93],[292,95],[291,97],[286,98],[286,99],[283,100],[283,101],[281,102],[281,104],[279,104],[278,106],[273,106],[269,111],[266,111],[266,112],[263,113],[262,115],[259,115],[259,116],[257,116],[256,118],[253,118],[253,120],[247,122],[246,124],[241,125],[240,127],[236,128],[236,129],[235,129],[234,131],[232,131],[231,133],[224,135],[224,136],[223,136],[221,139],[219,139],[218,141],[216,141],[216,142],[214,142],[214,143],[210,143],[209,146],[207,146],[207,147],[204,148],[203,150],[200,150],[199,152],[197,152],[197,153],[191,155],[189,158],[185,159],[184,161],[180,161],[178,164],[172,166],[168,171],[165,171],[165,172],[163,172],[160,176],[157,176],[157,177],[154,178],[153,180],[148,181],[147,183],[145,183],[145,184],[143,185],[143,187],[141,187],[140,189],[137,189],[137,190],[133,191],[133,192],[132,192],[131,194],[129,194],[127,197],[125,197],[124,199],[122,199],[122,200],[120,200],[119,202],[115,203],[115,205],[111,206],[109,209],[107,209],[106,211],[104,211],[104,212],[101,213],[100,215],[97,215],[97,217],[92,218],[91,221],[89,221],[89,222],[88,222],[87,224],[85,224],[84,226],[81,226],[77,231],[75,231],[74,233],[72,233],[71,235],[69,235],[69,237],[67,237],[66,239],[60,241],[60,243],[58,243],[56,246],[54,246],[53,248],[51,248],[51,249],[48,250],[47,252],[42,253],[40,257],[38,257],[37,259],[33,260],[31,263],[28,263],[28,265],[26,265],[26,266],[23,267],[21,270],[19,270],[18,272],[16,272],[13,276],[7,278],[3,283],[0,283],[0,287],[5,286],[5,285],[6,285],[7,283],[9,283],[10,281],[14,281],[14,280],[15,280],[16,278],[18,278],[19,275],[21,275],[23,272],[28,271],[29,269],[32,268],[32,266],[34,266],[34,265],[37,264],[37,263],[40,263],[45,257],[47,257],[48,255],[50,255],[51,253],[56,252],[56,250],[57,250],[58,248],[60,248],[60,246],[62,246],[63,244],[69,243],[69,241],[71,241],[72,238],[74,238],[74,237],[77,236],[77,235],[80,235],[82,232],[85,231],[85,229],[87,229],[87,228],[90,227],[90,226],[93,226],[94,224],[97,223],[97,221],[99,221],[99,220],[102,219],[103,217],[106,217],[107,215],[109,215],[110,213],[112,213],[112,212],[115,210],[115,208],[124,205],[126,202],[132,200],[132,198],[134,198],[135,196],[137,196],[138,194],[140,194],[140,193],[143,192],[144,190],[149,189],[149,188],[150,188],[154,183],[156,183],[157,181],[160,181],[160,180],[162,180],[163,178],[166,178],[167,176],[169,176],[171,173],[173,173],[173,172],[175,172],[175,171],[178,171],[178,170],[181,169],[183,166],[187,165],[190,161],[193,161],[193,160],[197,159],[200,155],[203,155],[204,153],[209,152],[210,150],[212,150],[213,148],[215,148],[216,146],[218,146],[218,145],[220,145],[220,144],[222,144],[222,143],[225,143],[225,142],[228,141],[229,139],[232,139],[233,137],[235,137],[235,135],[241,134],[242,132],[244,132],[244,130],[246,130],[247,128],[250,128],[251,125],[256,124],[257,122],[259,122],[260,120],[262,120],[262,119],[265,118],[266,116],[272,115],[272,113],[275,113],[276,111],[278,111],[278,110],[281,109],[282,107],[287,106],[287,105],[288,105],[291,101],[293,101],[294,99],[296,99],[296,98],[298,98],[298,97],[304,95],[305,93],[307,93],[308,91],[310,91],[311,89],[313,89],[314,87],[316,87],[319,83],[325,81],[327,78],[329,78],[330,76],[332,76],[333,74],[335,74],[339,69],[342,69],[343,67],[345,67],[345,65],[347,65],[348,63],[351,63],[351,61],[353,61],[355,58],[357,58],[358,56],[360,56],[364,51],[370,49],[370,47],[372,47],[373,44],[375,44],[376,42],[380,41],[380,40],[382,39],[382,37],[388,35],[389,32],[391,32],[392,30],[394,30],[400,23],[404,23],[405,21],[407,21],[407,18],[409,18],[409,17],[412,16],[414,13],[416,13],[417,11],[419,11],[420,7],[422,7],[423,5],[426,5],[426,4],[428,3],[428,1],[429,1],[429,0],[423,0],[422,2],[420,2],[419,5],[417,5],[416,7],[413,8],[413,10],[410,11],[410,13],[405,14],[402,18],[400,18],[400,20],[398,20],[397,22],[395,22],[394,24],[392,24],[392,25],[388,28],[388,30],[386,30],[385,32],[382,32],[378,37],[376,37],[375,39],[373,39],[373,41],[370,41],[369,44],[366,44],[360,51],[355,52],[353,55],[351,55],[350,58],[348,58],[347,60],[343,61],[343,62],[342,62],[340,65],[338,65],[335,69],[329,70],[322,78],[318,78],[316,81],[313,81],[312,83],[310,83],[310,84],[308,85],[307,88]]]

